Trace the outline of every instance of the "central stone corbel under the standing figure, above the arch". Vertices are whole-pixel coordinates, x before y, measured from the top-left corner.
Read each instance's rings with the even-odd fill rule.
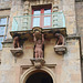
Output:
[[[32,64],[37,68],[37,69],[40,69],[44,63],[44,59],[31,59],[30,60],[32,62]]]

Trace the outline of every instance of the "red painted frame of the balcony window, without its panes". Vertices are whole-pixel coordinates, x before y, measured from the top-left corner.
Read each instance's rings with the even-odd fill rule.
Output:
[[[51,28],[52,27],[52,13],[51,14],[48,14],[48,15],[44,15],[44,10],[45,9],[51,9],[51,12],[52,12],[52,7],[50,6],[49,8],[44,6],[42,7],[41,9],[37,9],[37,8],[32,8],[32,19],[31,19],[31,28],[33,28],[33,18],[40,18],[40,28]],[[40,8],[40,7],[38,7]],[[34,10],[41,10],[41,14],[43,15],[33,15],[34,13]],[[51,17],[51,24],[50,25],[44,25],[44,17]]]

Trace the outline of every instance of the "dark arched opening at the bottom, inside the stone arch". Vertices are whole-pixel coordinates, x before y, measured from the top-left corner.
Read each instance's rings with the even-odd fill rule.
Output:
[[[45,72],[37,72],[32,74],[25,83],[53,83],[53,80]]]

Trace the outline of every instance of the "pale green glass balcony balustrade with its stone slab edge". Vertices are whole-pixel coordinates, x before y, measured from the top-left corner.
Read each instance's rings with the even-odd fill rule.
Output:
[[[66,34],[63,12],[13,17],[10,34],[13,35],[14,32],[29,33],[34,27],[49,31],[60,30],[63,35]]]

